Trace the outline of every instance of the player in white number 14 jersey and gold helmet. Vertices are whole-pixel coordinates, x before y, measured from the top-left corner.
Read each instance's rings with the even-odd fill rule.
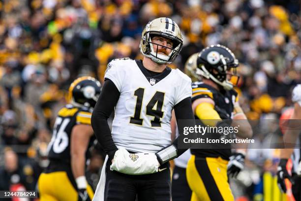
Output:
[[[170,201],[168,161],[184,152],[171,144],[170,120],[191,119],[191,79],[167,64],[182,48],[179,26],[169,18],[142,33],[143,60],[116,59],[92,113],[94,133],[107,153],[95,201]],[[114,111],[112,132],[107,119]],[[194,123],[193,123],[194,124]]]

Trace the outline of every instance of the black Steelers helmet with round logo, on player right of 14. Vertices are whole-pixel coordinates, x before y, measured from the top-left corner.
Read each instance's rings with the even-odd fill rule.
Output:
[[[236,73],[238,66],[239,62],[229,48],[223,45],[211,45],[198,54],[196,74],[211,79],[225,90],[231,90],[233,85],[238,82]],[[232,70],[231,76],[237,77],[237,79],[233,79],[236,80],[236,83],[227,79],[227,73],[230,70]]]

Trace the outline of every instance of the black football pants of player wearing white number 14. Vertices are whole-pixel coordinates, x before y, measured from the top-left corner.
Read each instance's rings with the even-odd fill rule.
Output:
[[[166,169],[144,175],[129,175],[110,170],[106,166],[105,201],[170,201],[171,180],[169,163]]]

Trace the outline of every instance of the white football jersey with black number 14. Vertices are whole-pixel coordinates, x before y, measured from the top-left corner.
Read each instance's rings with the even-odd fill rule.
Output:
[[[157,152],[171,144],[171,113],[191,97],[191,79],[179,69],[151,75],[141,60],[118,59],[108,64],[105,79],[120,92],[112,137],[117,147],[133,152]]]

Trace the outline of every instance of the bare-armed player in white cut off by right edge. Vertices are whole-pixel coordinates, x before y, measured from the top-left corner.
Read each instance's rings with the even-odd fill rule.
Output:
[[[288,173],[288,170],[286,168],[286,164],[288,162],[288,159],[291,158],[292,153],[294,152],[294,147],[292,147],[292,144],[296,144],[298,141],[298,137],[300,137],[300,119],[301,119],[301,84],[298,84],[293,92],[292,92],[292,100],[294,102],[294,111],[291,115],[288,123],[288,127],[286,129],[286,132],[283,136],[283,140],[285,145],[288,145],[287,148],[280,150],[280,163],[277,168],[277,182],[280,190],[283,193],[286,193],[286,184],[285,179],[289,179],[292,183],[292,190],[294,197],[297,201],[301,200],[301,193],[300,193],[300,185],[301,185],[301,160],[300,160],[300,154],[301,149],[299,152],[299,164],[294,164],[294,171],[293,174],[296,175],[290,175]],[[298,120],[298,121],[297,121]],[[290,129],[291,128],[291,129]],[[299,144],[300,144],[299,139]],[[294,179],[293,179],[294,177]]]

